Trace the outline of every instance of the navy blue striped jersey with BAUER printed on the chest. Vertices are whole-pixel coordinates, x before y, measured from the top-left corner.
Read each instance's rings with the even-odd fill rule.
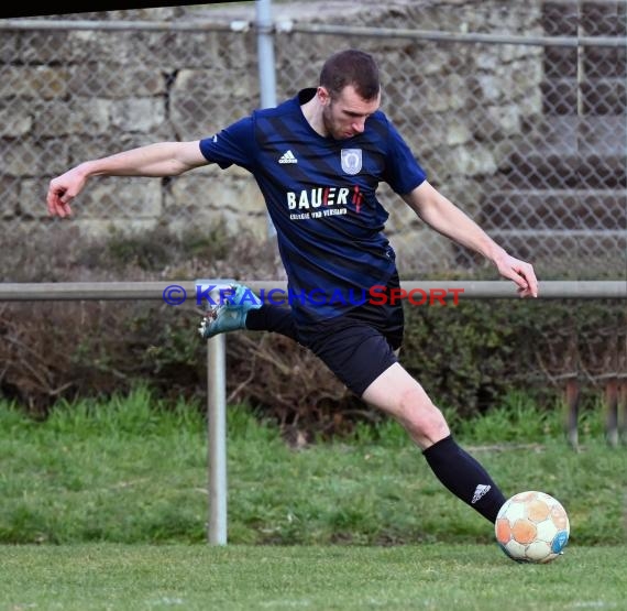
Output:
[[[388,214],[377,186],[406,194],[426,178],[381,111],[350,139],[318,134],[300,109],[315,92],[304,89],[200,141],[209,162],[254,175],[276,228],[290,305],[304,324],[338,316],[387,282],[395,253],[383,233]]]

